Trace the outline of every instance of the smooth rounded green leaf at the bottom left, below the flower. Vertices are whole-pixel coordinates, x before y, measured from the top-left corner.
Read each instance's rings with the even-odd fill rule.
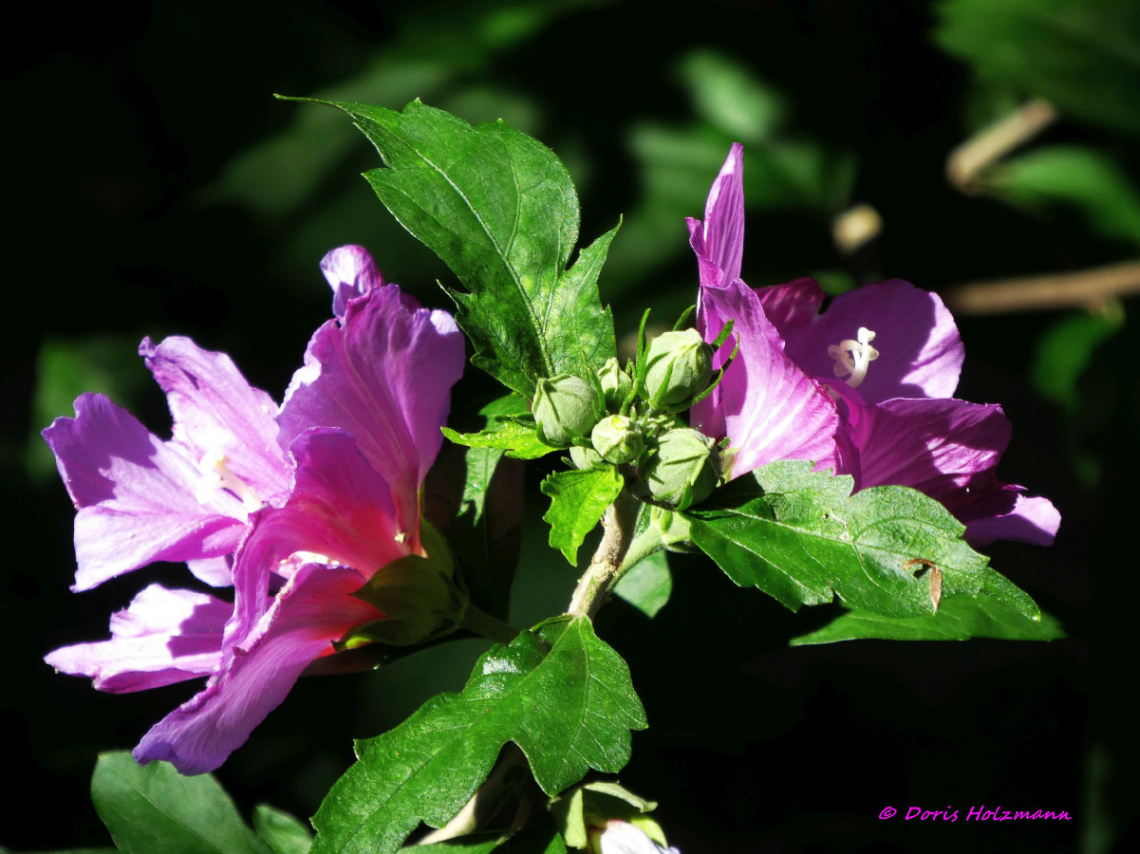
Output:
[[[165,762],[144,767],[130,754],[103,754],[91,803],[123,852],[270,854],[210,774],[182,776]]]

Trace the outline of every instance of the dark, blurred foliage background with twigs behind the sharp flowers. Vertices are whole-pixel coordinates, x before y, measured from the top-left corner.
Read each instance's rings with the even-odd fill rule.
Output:
[[[25,14],[0,54],[18,294],[0,437],[0,715],[17,789],[0,843],[105,844],[87,797],[96,753],[132,746],[189,693],[100,696],[42,664],[105,636],[139,583],[67,592],[72,509],[39,430],[83,390],[166,430],[136,356],[145,334],[226,350],[279,396],[328,316],[317,263],[336,245],[367,245],[389,280],[443,304],[434,283],[449,274],[359,178],[377,164],[369,146],[333,111],[269,97],[280,92],[418,97],[537,136],[576,179],[585,239],[624,217],[601,280],[619,334],[645,306],[671,323],[693,300],[684,217],[701,215],[733,140],[746,146],[750,284],[815,275],[837,293],[897,276],[955,307],[959,396],[1003,404],[1015,438],[1001,474],[1064,518],[1053,548],[988,551],[1069,637],[789,649],[831,612],[788,613],[670,555],[671,601],[652,620],[614,602],[600,629],[651,723],[622,782],[661,803],[673,844],[1134,849],[1134,0],[285,1],[271,15],[168,0]],[[491,393],[469,377],[454,418]],[[520,625],[561,610],[575,579],[545,544],[542,474],[527,478]],[[181,583],[174,567],[148,576]],[[351,738],[459,688],[482,649],[457,641],[367,676],[304,680],[219,776],[246,814],[269,802],[309,815]],[[980,803],[1075,820],[877,818],[888,804],[964,815]],[[46,804],[66,818],[35,820]]]

